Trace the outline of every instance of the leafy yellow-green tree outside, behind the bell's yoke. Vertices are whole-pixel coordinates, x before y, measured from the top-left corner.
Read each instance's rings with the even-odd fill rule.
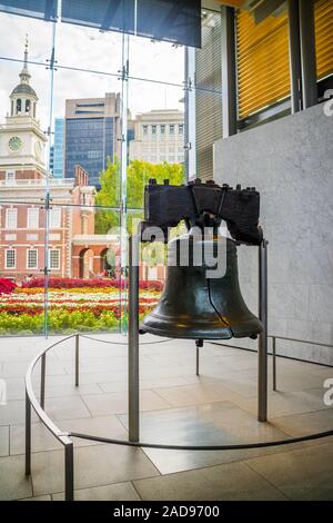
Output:
[[[128,166],[127,195],[128,195],[128,227],[131,227],[132,218],[142,218],[143,191],[150,178],[155,178],[158,184],[169,179],[172,185],[181,185],[184,181],[184,169],[180,164],[149,164],[148,161],[133,160]],[[97,195],[95,204],[101,207],[120,207],[121,171],[120,161],[108,160],[107,169],[100,176],[101,189]],[[113,209],[101,208],[95,215],[95,233],[107,234],[112,227],[120,225],[120,214]]]

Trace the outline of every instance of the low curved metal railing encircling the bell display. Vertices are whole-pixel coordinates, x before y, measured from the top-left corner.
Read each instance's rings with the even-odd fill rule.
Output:
[[[249,450],[249,448],[265,448],[271,446],[279,446],[279,445],[289,445],[293,443],[301,443],[304,441],[311,440],[319,440],[322,437],[333,436],[333,430],[310,434],[306,436],[300,437],[290,437],[279,441],[265,441],[265,442],[255,442],[255,443],[240,443],[240,444],[232,444],[232,445],[168,445],[168,444],[157,444],[157,443],[144,443],[144,442],[132,442],[125,440],[114,440],[109,437],[102,436],[93,436],[90,434],[80,434],[74,432],[65,432],[60,430],[53,421],[44,412],[44,401],[46,401],[46,371],[47,371],[47,354],[51,348],[54,348],[57,345],[62,344],[69,339],[74,338],[74,383],[75,386],[79,386],[79,365],[80,365],[80,337],[95,341],[100,343],[108,343],[110,345],[128,345],[127,342],[119,343],[119,342],[110,342],[105,339],[99,339],[92,336],[83,335],[83,334],[72,334],[67,336],[58,342],[53,343],[49,347],[41,351],[31,362],[28,367],[27,375],[26,375],[26,475],[31,474],[31,407],[36,412],[39,420],[43,423],[43,425],[50,431],[50,433],[63,445],[64,447],[64,499],[65,501],[73,501],[74,499],[74,447],[72,437],[88,440],[88,441],[97,441],[100,443],[110,443],[114,445],[123,445],[123,446],[134,446],[140,448],[162,448],[162,450],[176,450],[176,451],[235,451],[235,450]],[[289,342],[299,342],[304,344],[313,344],[324,347],[333,348],[333,345],[323,344],[323,343],[315,343],[315,342],[307,342],[304,339],[295,339],[295,338],[287,338],[283,336],[269,336],[273,339],[273,373],[275,373],[275,389],[276,389],[276,339],[284,339]],[[170,338],[159,341],[159,342],[145,342],[141,345],[150,345],[155,343],[165,343],[170,342]],[[228,344],[216,344],[219,346],[239,348],[239,349],[246,349],[245,347],[238,347],[234,345]],[[32,386],[32,373],[36,368],[36,365],[41,362],[41,379],[40,379],[40,401],[38,401],[33,386]],[[199,351],[196,346],[196,374],[199,375]],[[274,378],[273,378],[274,379]]]

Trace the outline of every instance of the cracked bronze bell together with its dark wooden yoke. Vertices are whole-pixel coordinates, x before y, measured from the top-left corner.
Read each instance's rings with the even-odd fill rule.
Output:
[[[165,229],[165,224],[174,226],[178,218],[183,218],[188,233],[168,244],[164,289],[158,305],[143,318],[140,333],[190,339],[255,338],[262,332],[262,324],[249,310],[241,294],[236,240],[260,243],[260,229],[253,227],[258,225],[259,194],[253,189],[233,190],[229,186],[221,188],[198,181],[178,187],[179,191],[171,187],[148,186],[145,217],[149,219],[144,228],[160,224]],[[189,200],[184,189],[189,189]],[[168,191],[169,197],[164,199]],[[165,214],[163,204],[168,207]],[[233,218],[226,225],[234,239],[219,233],[222,216]],[[244,221],[246,216],[249,220]]]

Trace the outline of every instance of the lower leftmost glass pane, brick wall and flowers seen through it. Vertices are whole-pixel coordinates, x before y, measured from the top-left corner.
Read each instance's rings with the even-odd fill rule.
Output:
[[[1,336],[46,332],[46,209],[38,200],[21,204],[18,199],[17,194],[17,200],[0,201]]]

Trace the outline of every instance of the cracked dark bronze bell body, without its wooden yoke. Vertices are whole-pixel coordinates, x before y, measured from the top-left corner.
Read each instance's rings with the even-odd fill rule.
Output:
[[[212,269],[212,265],[208,267],[204,253],[215,253],[221,246],[224,247],[225,270],[221,277],[208,277],[206,270]],[[188,264],[184,265],[180,253],[186,251]],[[195,253],[202,253],[200,265]],[[241,294],[234,240],[216,234],[203,237],[190,230],[169,241],[163,294],[154,309],[143,318],[141,334],[230,339],[255,338],[261,332],[261,322],[249,310]]]

